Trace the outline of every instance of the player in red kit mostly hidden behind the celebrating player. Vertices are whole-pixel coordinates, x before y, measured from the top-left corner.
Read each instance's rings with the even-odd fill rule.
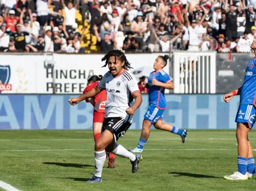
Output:
[[[87,87],[84,88],[83,93],[89,92],[92,88],[99,84],[102,79],[102,75],[93,75],[88,79]],[[96,142],[101,133],[101,127],[105,116],[105,105],[107,102],[106,91],[103,90],[93,98],[86,99],[86,103],[91,103],[94,107],[93,111],[93,135],[94,141]],[[115,155],[112,153],[108,154],[108,168],[115,168]]]

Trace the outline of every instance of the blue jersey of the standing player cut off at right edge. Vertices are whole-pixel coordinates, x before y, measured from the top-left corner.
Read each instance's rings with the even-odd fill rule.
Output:
[[[253,104],[256,107],[256,56],[246,67],[245,81],[241,86],[240,104]]]

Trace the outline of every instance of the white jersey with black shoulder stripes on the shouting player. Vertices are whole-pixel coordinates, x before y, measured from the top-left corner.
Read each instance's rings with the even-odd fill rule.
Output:
[[[105,118],[121,117],[131,123],[133,116],[126,109],[133,101],[132,95],[140,92],[135,77],[126,70],[116,77],[107,72],[97,86],[107,93]]]

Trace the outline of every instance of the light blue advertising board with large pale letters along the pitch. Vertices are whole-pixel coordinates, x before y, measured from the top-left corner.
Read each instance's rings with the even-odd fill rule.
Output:
[[[92,129],[93,107],[85,101],[71,106],[68,100],[76,96],[78,94],[2,94],[0,129]],[[179,128],[236,128],[238,96],[228,104],[221,94],[167,94],[166,100],[163,120]],[[143,95],[130,129],[142,129],[147,106],[148,95]]]

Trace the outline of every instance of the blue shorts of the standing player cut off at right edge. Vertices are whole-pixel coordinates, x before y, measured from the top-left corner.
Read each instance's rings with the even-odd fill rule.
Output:
[[[252,104],[241,104],[236,114],[236,123],[248,123],[249,128],[252,129],[255,118],[256,109]]]

